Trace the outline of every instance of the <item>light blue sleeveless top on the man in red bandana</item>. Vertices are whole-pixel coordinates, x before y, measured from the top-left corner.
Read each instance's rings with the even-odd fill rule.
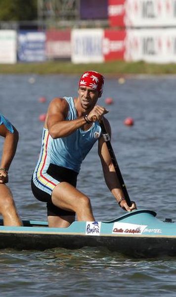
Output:
[[[69,104],[66,120],[77,119],[73,98],[64,97],[64,99]],[[43,148],[46,145],[44,144],[44,135],[46,134],[48,134],[48,130],[44,128]],[[92,123],[92,126],[87,131],[79,128],[67,137],[52,139],[48,135],[47,148],[45,148],[47,151],[45,162],[69,168],[79,173],[82,161],[100,136],[101,128],[98,122]]]

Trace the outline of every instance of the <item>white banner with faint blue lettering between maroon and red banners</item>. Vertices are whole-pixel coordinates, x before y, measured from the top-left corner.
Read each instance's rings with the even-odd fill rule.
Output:
[[[73,29],[71,33],[72,62],[103,62],[103,33],[103,29]]]

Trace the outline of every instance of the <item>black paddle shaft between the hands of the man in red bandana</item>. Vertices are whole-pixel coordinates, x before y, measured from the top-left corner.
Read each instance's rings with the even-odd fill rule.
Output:
[[[112,163],[114,165],[114,168],[115,168],[117,177],[119,179],[119,182],[120,182],[120,185],[121,185],[121,188],[122,188],[122,191],[124,193],[124,197],[125,197],[125,199],[127,201],[128,206],[131,206],[132,205],[132,202],[131,202],[130,197],[129,197],[129,194],[127,192],[127,188],[126,188],[126,185],[124,183],[124,179],[122,177],[122,174],[121,174],[119,165],[118,165],[117,160],[116,160],[116,156],[115,156],[114,151],[113,151],[113,148],[111,146],[110,136],[109,136],[109,134],[106,131],[106,128],[104,126],[103,119],[99,123],[100,123],[100,127],[101,127],[101,130],[102,130],[102,133],[103,133],[104,141],[106,142],[107,148],[109,150],[109,154],[111,156]]]

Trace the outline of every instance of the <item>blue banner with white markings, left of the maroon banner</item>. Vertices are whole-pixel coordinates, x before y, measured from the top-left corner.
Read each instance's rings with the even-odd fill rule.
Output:
[[[46,59],[45,33],[20,31],[18,34],[18,60],[22,62],[41,62]]]

